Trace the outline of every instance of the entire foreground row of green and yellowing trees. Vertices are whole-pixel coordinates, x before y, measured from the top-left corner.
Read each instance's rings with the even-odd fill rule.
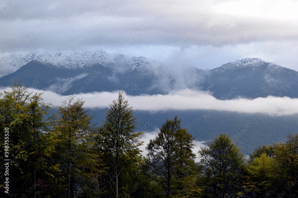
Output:
[[[143,132],[123,92],[97,124],[83,99],[69,96],[48,115],[42,93],[11,88],[0,93],[1,197],[298,197],[298,134],[244,158],[222,133],[194,153],[194,137],[173,115],[142,155]]]

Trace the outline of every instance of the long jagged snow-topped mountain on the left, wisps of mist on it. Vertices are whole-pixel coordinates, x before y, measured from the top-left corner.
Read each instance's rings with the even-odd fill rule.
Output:
[[[3,61],[19,69],[1,77],[0,86],[10,86],[21,79],[29,87],[63,95],[115,90],[124,90],[131,95],[167,94],[183,88],[184,82],[193,75],[200,80],[197,78],[191,87],[198,87],[206,75],[197,68],[184,68],[177,75],[176,71],[153,68],[153,61],[142,56],[112,57],[103,51],[70,55],[13,54],[0,59]]]

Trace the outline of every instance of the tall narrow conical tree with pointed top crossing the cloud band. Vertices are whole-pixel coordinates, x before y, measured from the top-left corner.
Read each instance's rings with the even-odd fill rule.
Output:
[[[106,112],[105,121],[99,129],[100,150],[104,153],[105,163],[108,166],[108,183],[111,190],[118,198],[124,189],[124,182],[120,184],[121,177],[128,172],[131,166],[138,163],[141,132],[135,131],[136,118],[133,116],[133,107],[129,107],[124,99],[123,92],[119,92],[117,101],[109,104],[110,109]]]

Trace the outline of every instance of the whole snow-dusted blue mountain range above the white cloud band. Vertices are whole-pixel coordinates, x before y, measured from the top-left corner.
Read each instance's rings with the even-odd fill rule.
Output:
[[[1,77],[0,86],[10,86],[21,79],[29,87],[63,95],[115,90],[131,95],[167,94],[191,88],[210,91],[217,99],[269,95],[298,98],[298,73],[260,58],[241,58],[209,71],[154,68],[148,58],[112,57],[104,51],[12,54],[1,58],[1,62],[19,69]]]

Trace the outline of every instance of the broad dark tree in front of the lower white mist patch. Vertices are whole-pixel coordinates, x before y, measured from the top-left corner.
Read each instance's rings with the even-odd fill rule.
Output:
[[[181,128],[181,120],[166,119],[157,137],[150,140],[146,150],[152,180],[160,186],[166,197],[177,196],[185,190],[183,183],[197,168],[193,153],[193,140],[186,129]],[[174,193],[175,192],[175,193]]]

